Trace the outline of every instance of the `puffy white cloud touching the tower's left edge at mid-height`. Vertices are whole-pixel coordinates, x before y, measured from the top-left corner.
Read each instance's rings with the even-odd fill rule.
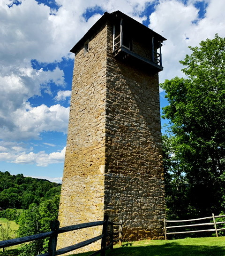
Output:
[[[44,104],[31,107],[27,103],[10,113],[8,119],[14,120],[13,125],[0,127],[0,139],[15,141],[39,139],[44,131],[67,133],[68,117],[69,107],[63,107],[60,104],[50,107]]]

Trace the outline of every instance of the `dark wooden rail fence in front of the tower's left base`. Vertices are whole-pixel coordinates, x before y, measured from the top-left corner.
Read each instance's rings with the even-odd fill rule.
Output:
[[[95,226],[99,226],[99,225],[102,225],[102,234],[101,235],[98,235],[97,237],[82,241],[75,245],[71,245],[71,246],[56,250],[58,234],[61,234],[64,232],[69,232],[69,231],[74,231],[74,230],[80,230],[83,228],[95,227]],[[86,245],[89,245],[89,244],[101,239],[102,240],[101,241],[101,249],[90,254],[90,256],[97,255],[98,253],[100,253],[101,256],[105,256],[106,249],[108,249],[108,248],[113,249],[114,242],[119,241],[121,244],[121,241],[122,241],[122,222],[121,221],[117,222],[117,223],[110,222],[108,216],[105,216],[103,221],[71,225],[71,226],[62,227],[62,228],[59,228],[59,226],[60,226],[59,221],[53,221],[51,231],[45,232],[45,233],[39,233],[36,235],[26,236],[26,237],[15,238],[15,239],[11,239],[11,240],[0,241],[0,248],[6,248],[9,246],[23,244],[26,242],[44,239],[44,238],[49,237],[50,239],[49,239],[49,245],[48,245],[48,252],[44,253],[44,254],[39,254],[37,256],[56,256],[56,255],[65,254],[67,252],[76,250],[78,248],[82,248]],[[119,226],[119,230],[113,231],[113,226]],[[116,240],[113,239],[113,235],[115,235],[115,234],[119,234],[119,238]]]

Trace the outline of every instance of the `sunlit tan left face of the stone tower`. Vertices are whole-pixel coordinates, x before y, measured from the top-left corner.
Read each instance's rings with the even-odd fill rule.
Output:
[[[105,172],[106,27],[75,56],[60,226],[103,220]],[[102,227],[63,233],[58,248],[92,238]],[[100,242],[82,251],[99,249]]]

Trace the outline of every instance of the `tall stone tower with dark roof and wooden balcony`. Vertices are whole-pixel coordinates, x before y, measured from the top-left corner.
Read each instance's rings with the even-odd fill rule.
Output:
[[[122,220],[129,240],[163,238],[165,217],[158,72],[164,37],[105,13],[75,53],[60,226]],[[101,227],[64,233],[59,247]],[[88,250],[98,249],[98,243]]]

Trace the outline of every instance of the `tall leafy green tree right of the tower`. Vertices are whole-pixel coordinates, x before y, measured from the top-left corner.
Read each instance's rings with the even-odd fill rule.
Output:
[[[216,34],[199,45],[189,47],[192,53],[180,61],[186,78],[165,80],[161,87],[171,128],[164,138],[167,175],[186,183],[188,202],[181,211],[205,215],[218,214],[224,203],[225,38]]]

